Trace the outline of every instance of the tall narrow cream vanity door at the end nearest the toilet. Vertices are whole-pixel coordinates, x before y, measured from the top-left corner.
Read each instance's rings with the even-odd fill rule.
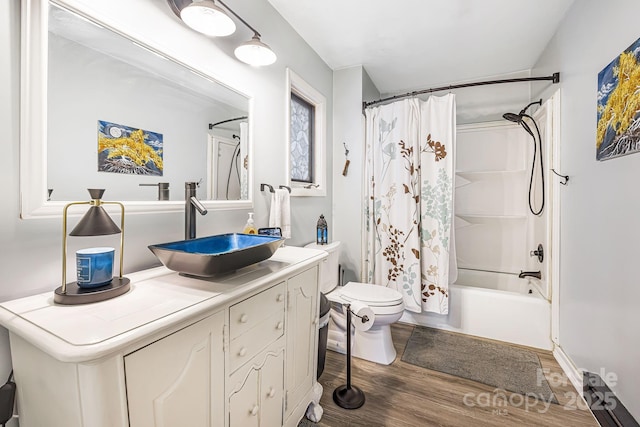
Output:
[[[318,344],[318,268],[287,281],[286,406],[287,413],[313,387]]]

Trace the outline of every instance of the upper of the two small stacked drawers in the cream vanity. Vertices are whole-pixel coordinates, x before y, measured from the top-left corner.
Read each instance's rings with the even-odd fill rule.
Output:
[[[229,309],[229,336],[233,340],[275,312],[284,312],[285,283],[260,292]]]

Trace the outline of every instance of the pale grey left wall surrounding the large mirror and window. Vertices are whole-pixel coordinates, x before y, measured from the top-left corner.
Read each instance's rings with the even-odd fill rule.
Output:
[[[234,10],[255,26],[277,53],[269,67],[252,68],[233,57],[235,45],[251,38],[239,26],[231,40],[212,40],[183,25],[160,0],[70,0],[75,6],[101,16],[108,23],[132,32],[153,47],[168,51],[186,62],[194,62],[225,84],[253,97],[254,211],[256,225],[268,223],[269,195],[260,193],[261,182],[277,186],[286,182],[285,160],[285,69],[291,67],[327,99],[327,138],[332,156],[332,81],[327,65],[293,31],[266,0],[236,2]],[[0,127],[3,129],[0,156],[0,301],[60,286],[60,219],[19,219],[19,88],[20,88],[20,1],[0,2]],[[331,177],[331,164],[328,165]],[[328,187],[331,188],[331,178]],[[322,212],[331,222],[331,194],[326,197],[292,200],[292,239],[298,245],[315,239],[315,225]],[[241,231],[247,211],[210,211],[198,217],[198,234]],[[184,215],[126,216],[125,273],[157,265],[147,249],[152,243],[181,239]],[[73,258],[73,257],[70,257]],[[70,262],[68,269],[72,269]],[[6,334],[0,333],[0,378],[10,370]]]

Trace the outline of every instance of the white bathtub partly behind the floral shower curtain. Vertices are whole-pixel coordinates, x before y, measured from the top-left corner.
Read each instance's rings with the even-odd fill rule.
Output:
[[[535,280],[535,279],[533,279]],[[552,350],[551,303],[529,279],[460,269],[449,314],[405,311],[401,322]]]

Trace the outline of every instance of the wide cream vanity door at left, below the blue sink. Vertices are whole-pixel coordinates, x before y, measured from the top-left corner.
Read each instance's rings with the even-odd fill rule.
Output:
[[[224,312],[124,358],[131,427],[224,426]]]

